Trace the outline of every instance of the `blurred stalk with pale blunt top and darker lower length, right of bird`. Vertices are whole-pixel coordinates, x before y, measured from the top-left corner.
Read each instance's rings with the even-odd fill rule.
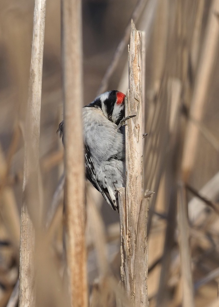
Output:
[[[165,242],[163,247],[162,266],[159,279],[159,288],[157,292],[156,306],[167,306],[167,282],[169,278],[169,271],[171,265],[171,251],[174,246],[175,233],[175,215],[176,215],[176,178],[177,170],[175,169],[175,159],[178,156],[179,146],[177,140],[179,139],[179,110],[180,110],[180,95],[182,90],[181,81],[178,78],[169,78],[167,81],[167,105],[170,105],[167,111],[167,118],[169,116],[165,133],[169,133],[167,142],[170,146],[165,161],[165,187],[163,199],[168,206],[167,213],[167,227],[165,233]],[[161,149],[159,149],[161,150]],[[166,194],[166,196],[165,196]],[[151,214],[152,216],[152,214]],[[151,217],[152,218],[152,217]]]

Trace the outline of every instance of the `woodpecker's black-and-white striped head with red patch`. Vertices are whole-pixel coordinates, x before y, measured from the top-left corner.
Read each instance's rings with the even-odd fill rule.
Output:
[[[106,118],[118,125],[125,116],[125,94],[115,90],[108,91],[96,97],[86,107],[102,109]]]

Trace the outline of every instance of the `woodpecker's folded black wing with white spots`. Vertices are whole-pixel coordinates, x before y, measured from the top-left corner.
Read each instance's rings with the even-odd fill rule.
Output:
[[[110,205],[110,207],[113,208],[113,210],[116,210],[115,205],[113,204],[113,202],[110,200],[109,196],[107,195],[108,190],[104,188],[101,182],[98,181],[96,178],[96,172],[94,170],[94,165],[93,165],[89,150],[86,145],[84,148],[84,155],[85,155],[85,171],[86,171],[87,179],[92,183],[94,188],[96,188],[102,194],[102,196],[107,201],[107,203]]]

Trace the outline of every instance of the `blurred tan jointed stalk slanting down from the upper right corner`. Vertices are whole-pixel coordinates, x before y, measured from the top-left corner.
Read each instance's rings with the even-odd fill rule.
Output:
[[[219,0],[214,0],[209,10],[209,20],[203,42],[200,62],[197,68],[197,79],[190,107],[190,117],[196,122],[201,122],[209,88],[210,75],[212,73],[215,57],[217,55],[217,43],[219,37]],[[189,122],[186,129],[185,144],[183,149],[182,170],[184,180],[188,181],[190,172],[194,166],[199,130],[193,122]]]

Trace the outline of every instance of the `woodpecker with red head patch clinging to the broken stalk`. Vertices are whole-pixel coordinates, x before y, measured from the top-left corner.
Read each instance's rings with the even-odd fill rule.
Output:
[[[86,178],[113,210],[119,211],[117,189],[125,187],[125,94],[107,91],[83,107]],[[64,145],[64,121],[57,130]]]

